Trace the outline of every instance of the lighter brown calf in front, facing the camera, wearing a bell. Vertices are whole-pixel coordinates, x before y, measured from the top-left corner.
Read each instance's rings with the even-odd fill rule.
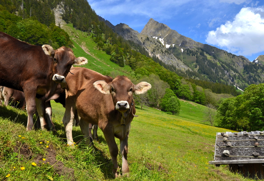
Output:
[[[128,134],[131,121],[136,113],[133,92],[135,94],[145,93],[151,88],[151,85],[147,82],[134,85],[125,76],[113,79],[81,67],[75,68],[71,72],[74,75],[68,74],[66,77],[66,107],[63,117],[67,143],[74,144],[72,127],[77,109],[86,144],[90,145],[89,123],[98,125],[104,133],[114,164],[112,169],[114,177],[120,175],[117,165],[118,147],[115,143],[115,137],[119,138],[122,173],[128,174]]]

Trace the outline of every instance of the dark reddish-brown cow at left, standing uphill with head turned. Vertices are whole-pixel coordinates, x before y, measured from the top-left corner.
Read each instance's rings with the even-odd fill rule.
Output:
[[[36,109],[41,120],[41,129],[48,128],[44,102],[55,99],[59,83],[72,64],[85,64],[87,59],[76,58],[70,48],[57,50],[49,45],[34,46],[0,32],[0,85],[23,91],[27,103],[27,130],[33,130],[33,114]]]

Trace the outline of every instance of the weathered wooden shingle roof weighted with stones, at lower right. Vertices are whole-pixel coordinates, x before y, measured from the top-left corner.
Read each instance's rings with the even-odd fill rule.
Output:
[[[264,163],[264,132],[218,132],[210,164]]]

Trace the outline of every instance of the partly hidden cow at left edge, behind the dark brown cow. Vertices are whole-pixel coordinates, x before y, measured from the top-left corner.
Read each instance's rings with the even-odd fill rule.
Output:
[[[2,100],[5,106],[11,102],[12,106],[25,110],[25,94],[22,91],[0,86],[0,105],[2,105]]]

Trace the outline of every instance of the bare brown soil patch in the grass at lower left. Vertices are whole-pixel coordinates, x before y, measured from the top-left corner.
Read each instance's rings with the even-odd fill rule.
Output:
[[[65,180],[74,180],[74,169],[73,168],[68,168],[65,167],[62,161],[59,161],[56,159],[56,151],[53,147],[52,144],[49,145],[48,148],[48,154],[45,157],[45,161],[42,160],[43,156],[38,154],[32,153],[32,151],[29,148],[27,144],[22,144],[20,147],[21,143],[17,144],[18,146],[15,147],[15,152],[19,152],[20,155],[23,155],[24,158],[27,159],[32,159],[35,163],[39,163],[39,161],[43,162],[44,164],[49,164],[53,167],[53,169],[57,172],[57,174],[60,176],[64,176]],[[18,149],[20,147],[20,149]]]

